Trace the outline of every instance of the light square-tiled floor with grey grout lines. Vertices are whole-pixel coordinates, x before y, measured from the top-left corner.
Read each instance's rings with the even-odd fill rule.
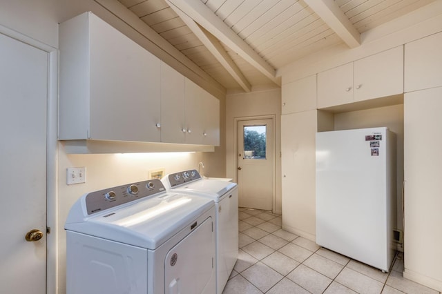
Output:
[[[439,293],[403,278],[402,253],[382,273],[282,231],[281,215],[240,208],[239,219],[240,252],[224,294]]]

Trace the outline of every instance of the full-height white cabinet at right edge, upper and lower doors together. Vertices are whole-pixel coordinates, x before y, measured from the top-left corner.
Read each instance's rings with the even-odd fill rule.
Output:
[[[442,32],[405,44],[404,277],[442,291]]]

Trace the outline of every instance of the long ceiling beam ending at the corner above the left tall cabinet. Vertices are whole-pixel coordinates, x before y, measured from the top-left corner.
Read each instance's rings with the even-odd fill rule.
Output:
[[[252,66],[262,72],[267,78],[280,86],[276,78],[276,70],[267,63],[258,53],[253,50],[236,32],[233,32],[222,19],[210,10],[201,0],[168,0],[175,9],[181,10],[188,17],[193,19],[202,28],[211,33],[215,38],[224,43],[249,62]]]

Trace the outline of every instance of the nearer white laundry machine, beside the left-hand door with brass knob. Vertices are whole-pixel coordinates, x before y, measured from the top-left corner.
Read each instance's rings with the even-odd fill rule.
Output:
[[[83,195],[66,221],[68,294],[215,293],[215,204],[159,179]]]

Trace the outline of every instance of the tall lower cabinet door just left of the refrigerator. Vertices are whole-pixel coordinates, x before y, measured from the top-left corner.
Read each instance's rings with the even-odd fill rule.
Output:
[[[317,110],[281,116],[282,223],[314,237]]]

